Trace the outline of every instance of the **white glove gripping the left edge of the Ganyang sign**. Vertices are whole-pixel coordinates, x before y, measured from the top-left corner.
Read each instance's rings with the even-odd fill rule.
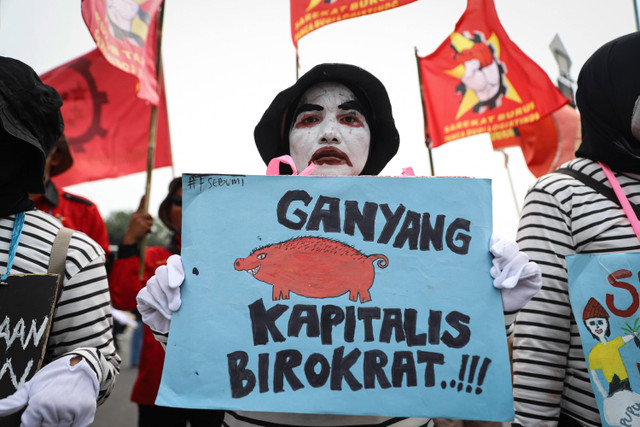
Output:
[[[171,315],[180,308],[180,286],[184,268],[180,255],[171,255],[167,265],[156,269],[156,275],[138,292],[138,311],[142,321],[157,332],[169,332]]]

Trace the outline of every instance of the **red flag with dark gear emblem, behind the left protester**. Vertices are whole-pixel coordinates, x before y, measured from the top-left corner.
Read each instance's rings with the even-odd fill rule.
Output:
[[[40,76],[62,96],[62,117],[74,163],[56,185],[115,178],[147,168],[151,105],[135,96],[136,78],[96,49]],[[160,93],[155,167],[171,166],[169,126]]]

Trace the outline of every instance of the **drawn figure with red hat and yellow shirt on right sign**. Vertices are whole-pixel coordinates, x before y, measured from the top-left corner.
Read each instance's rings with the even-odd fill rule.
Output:
[[[603,398],[604,419],[613,426],[640,426],[640,395],[631,391],[629,374],[620,348],[631,340],[640,348],[638,332],[609,340],[609,313],[595,298],[589,299],[582,314],[585,326],[598,340],[589,352],[588,367],[596,389]],[[607,393],[600,383],[598,370],[609,383]]]

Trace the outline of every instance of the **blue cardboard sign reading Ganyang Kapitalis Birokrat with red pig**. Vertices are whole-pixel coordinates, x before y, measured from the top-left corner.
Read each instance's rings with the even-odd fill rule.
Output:
[[[183,176],[156,404],[511,420],[491,186]]]

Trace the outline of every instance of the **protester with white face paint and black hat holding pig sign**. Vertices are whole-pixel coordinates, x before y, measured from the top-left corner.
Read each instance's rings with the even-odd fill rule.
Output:
[[[399,136],[382,83],[347,64],[321,64],[280,92],[255,128],[262,159],[289,154],[296,169],[315,175],[378,175],[398,151]],[[281,173],[286,173],[281,167]],[[537,265],[513,242],[492,241],[491,274],[503,289],[505,311],[515,312],[537,292]],[[171,256],[138,294],[143,321],[166,344],[172,313],[180,306],[184,270]],[[426,418],[227,411],[226,426],[433,426]]]

